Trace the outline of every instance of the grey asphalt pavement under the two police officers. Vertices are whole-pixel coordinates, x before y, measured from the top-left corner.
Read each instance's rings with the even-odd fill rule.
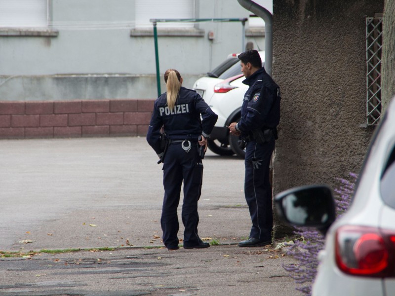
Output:
[[[236,156],[203,160],[198,230],[211,247],[168,251],[145,138],[1,140],[0,154],[0,295],[301,295],[278,242],[237,247],[251,221]]]

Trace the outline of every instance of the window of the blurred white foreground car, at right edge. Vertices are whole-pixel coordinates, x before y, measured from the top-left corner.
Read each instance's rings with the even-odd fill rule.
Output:
[[[395,209],[395,147],[388,159],[380,182],[381,197],[384,203]]]

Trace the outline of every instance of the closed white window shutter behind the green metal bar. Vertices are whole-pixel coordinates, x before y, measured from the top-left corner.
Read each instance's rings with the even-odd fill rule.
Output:
[[[194,0],[136,0],[136,28],[152,28],[150,19],[194,18]],[[191,28],[193,23],[158,23],[158,28]]]

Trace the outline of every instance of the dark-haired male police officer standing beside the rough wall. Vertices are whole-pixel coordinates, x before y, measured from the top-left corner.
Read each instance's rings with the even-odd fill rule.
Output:
[[[241,118],[229,125],[230,133],[241,136],[245,149],[245,199],[252,220],[248,240],[239,247],[258,247],[272,243],[273,211],[272,188],[269,180],[270,159],[277,138],[279,123],[279,87],[262,67],[256,50],[247,50],[238,56],[243,83],[249,88],[244,95]]]

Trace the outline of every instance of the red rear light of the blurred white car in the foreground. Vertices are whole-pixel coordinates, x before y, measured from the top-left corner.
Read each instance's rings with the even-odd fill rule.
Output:
[[[395,277],[395,232],[364,226],[336,231],[336,264],[346,274]]]

